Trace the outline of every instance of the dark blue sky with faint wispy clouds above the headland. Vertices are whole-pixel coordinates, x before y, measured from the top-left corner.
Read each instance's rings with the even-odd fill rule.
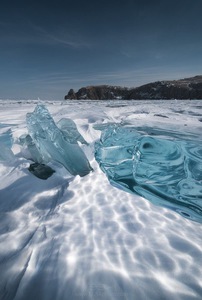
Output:
[[[202,74],[201,0],[4,1],[0,99]]]

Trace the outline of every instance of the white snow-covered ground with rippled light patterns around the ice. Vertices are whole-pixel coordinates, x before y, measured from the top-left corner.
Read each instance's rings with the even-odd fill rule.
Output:
[[[130,123],[202,138],[202,101],[41,101],[55,121],[71,118],[89,143],[94,171],[59,164],[41,180],[17,141],[40,101],[0,100],[1,300],[202,299],[202,224],[110,185],[94,158],[95,124]]]

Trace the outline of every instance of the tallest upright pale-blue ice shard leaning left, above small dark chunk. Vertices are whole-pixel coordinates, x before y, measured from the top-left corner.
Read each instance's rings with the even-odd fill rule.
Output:
[[[67,138],[71,132],[68,135],[60,130],[44,105],[36,106],[33,113],[27,114],[27,127],[34,147],[42,157],[40,163],[57,161],[72,175],[85,176],[92,170],[77,141]]]

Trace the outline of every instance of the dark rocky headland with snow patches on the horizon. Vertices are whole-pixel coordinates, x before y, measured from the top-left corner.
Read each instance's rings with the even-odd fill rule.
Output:
[[[180,80],[156,81],[135,88],[110,85],[82,87],[75,92],[70,89],[69,100],[160,100],[202,99],[202,75]]]

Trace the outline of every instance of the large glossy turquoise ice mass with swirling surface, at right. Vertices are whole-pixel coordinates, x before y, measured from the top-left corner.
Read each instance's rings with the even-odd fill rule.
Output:
[[[114,186],[202,222],[202,143],[194,137],[109,125],[95,158]]]

